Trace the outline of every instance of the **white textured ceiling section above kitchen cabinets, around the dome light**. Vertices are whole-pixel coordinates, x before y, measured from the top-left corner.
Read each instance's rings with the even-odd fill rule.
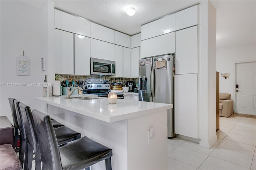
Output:
[[[162,0],[54,0],[57,8],[77,14],[101,25],[129,35],[141,32],[140,26],[199,1]],[[136,14],[128,16],[126,9],[134,7]]]

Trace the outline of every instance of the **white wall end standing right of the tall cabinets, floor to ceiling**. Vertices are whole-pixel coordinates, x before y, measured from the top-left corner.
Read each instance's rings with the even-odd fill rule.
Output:
[[[201,1],[198,57],[198,138],[210,148],[216,136],[216,9]]]

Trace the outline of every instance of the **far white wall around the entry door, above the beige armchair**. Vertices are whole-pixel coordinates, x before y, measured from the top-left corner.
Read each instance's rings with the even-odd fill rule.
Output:
[[[216,70],[220,72],[220,93],[230,93],[231,99],[235,100],[235,63],[256,61],[256,43],[218,48],[216,61]],[[230,76],[228,79],[224,79],[221,77],[221,73],[230,73]]]

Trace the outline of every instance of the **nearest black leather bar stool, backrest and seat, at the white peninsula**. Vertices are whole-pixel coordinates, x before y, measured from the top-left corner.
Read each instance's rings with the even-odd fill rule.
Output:
[[[112,149],[84,136],[58,148],[50,116],[34,109],[32,115],[40,143],[43,170],[89,170],[89,166],[105,160],[111,170]]]

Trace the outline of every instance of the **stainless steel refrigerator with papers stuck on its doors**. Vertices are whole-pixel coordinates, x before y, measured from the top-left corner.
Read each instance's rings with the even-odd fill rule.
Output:
[[[174,54],[139,60],[139,101],[173,103]],[[174,112],[168,109],[168,138],[174,134]]]

